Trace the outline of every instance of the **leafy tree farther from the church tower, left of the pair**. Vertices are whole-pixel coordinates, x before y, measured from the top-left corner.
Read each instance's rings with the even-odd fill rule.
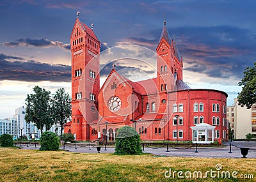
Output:
[[[44,126],[49,130],[53,124],[50,110],[51,92],[38,86],[33,87],[33,91],[35,93],[27,95],[26,98],[25,119],[28,123],[35,123],[42,134]]]

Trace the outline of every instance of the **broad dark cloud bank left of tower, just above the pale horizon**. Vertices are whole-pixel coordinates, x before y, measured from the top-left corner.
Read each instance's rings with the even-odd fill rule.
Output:
[[[0,80],[70,82],[71,66],[24,60],[22,57],[0,54]]]

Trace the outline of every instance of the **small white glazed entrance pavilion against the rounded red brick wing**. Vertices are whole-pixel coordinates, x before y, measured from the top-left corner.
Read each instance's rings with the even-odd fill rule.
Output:
[[[210,144],[214,142],[214,128],[216,128],[216,126],[200,123],[190,128],[192,129],[193,143]]]

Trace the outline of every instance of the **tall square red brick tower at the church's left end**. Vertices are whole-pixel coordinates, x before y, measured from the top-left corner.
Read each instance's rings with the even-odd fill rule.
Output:
[[[70,35],[72,60],[72,121],[71,132],[77,140],[90,139],[90,123],[98,118],[100,41],[89,28],[77,19]]]

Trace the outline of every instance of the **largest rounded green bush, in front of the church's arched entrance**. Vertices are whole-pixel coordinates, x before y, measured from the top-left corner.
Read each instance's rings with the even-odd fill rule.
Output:
[[[117,131],[115,154],[138,155],[141,154],[140,135],[130,127],[124,126]]]

